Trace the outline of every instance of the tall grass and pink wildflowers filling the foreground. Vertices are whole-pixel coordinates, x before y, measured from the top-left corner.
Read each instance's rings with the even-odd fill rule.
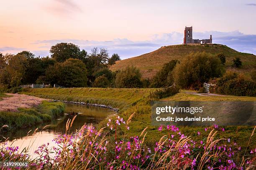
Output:
[[[131,138],[126,137],[126,134],[111,135],[118,134],[117,126],[129,129],[121,117],[108,120],[107,125],[100,130],[92,125],[84,125],[76,135],[70,135],[69,129],[72,127],[74,118],[67,121],[66,133],[54,139],[59,147],[49,147],[49,144],[41,145],[35,151],[38,157],[30,159],[25,150],[23,153],[18,153],[18,148],[3,145],[0,148],[0,160],[28,161],[27,169],[31,170],[231,170],[242,168],[245,170],[255,168],[253,164],[255,151],[251,150],[250,157],[236,162],[234,158],[241,152],[240,147],[230,139],[216,138],[217,133],[220,132],[218,126],[208,127],[209,134],[202,136],[201,141],[182,134],[175,126],[161,126],[159,130],[162,131],[165,128],[168,133],[163,133],[154,147],[149,148],[146,145],[147,128],[139,136]],[[54,153],[54,157],[50,156],[50,153]]]

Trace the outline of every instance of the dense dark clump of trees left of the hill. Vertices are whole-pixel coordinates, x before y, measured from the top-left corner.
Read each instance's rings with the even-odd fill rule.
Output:
[[[36,57],[29,51],[0,53],[0,84],[6,88],[32,83],[87,87],[99,76],[106,76],[111,82],[115,73],[109,67],[121,60],[118,54],[109,57],[105,48],[94,47],[87,53],[64,42],[52,46],[50,53],[51,57]]]

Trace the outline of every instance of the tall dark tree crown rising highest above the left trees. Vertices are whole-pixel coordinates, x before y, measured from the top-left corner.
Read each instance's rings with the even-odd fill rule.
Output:
[[[69,58],[84,60],[87,56],[85,50],[80,51],[79,46],[72,43],[61,42],[51,46],[51,57],[57,62],[64,62]]]

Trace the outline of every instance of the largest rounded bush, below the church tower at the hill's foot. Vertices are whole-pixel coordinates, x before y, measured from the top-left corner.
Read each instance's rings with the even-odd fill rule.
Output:
[[[176,65],[173,70],[174,82],[182,88],[199,89],[212,77],[220,77],[224,67],[214,55],[191,53]]]

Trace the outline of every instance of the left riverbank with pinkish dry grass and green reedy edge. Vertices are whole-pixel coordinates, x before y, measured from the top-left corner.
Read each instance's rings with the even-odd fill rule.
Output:
[[[26,128],[50,121],[58,117],[65,107],[62,102],[51,102],[28,95],[8,95],[9,97],[3,97],[0,101],[0,127],[8,125],[5,130]]]

